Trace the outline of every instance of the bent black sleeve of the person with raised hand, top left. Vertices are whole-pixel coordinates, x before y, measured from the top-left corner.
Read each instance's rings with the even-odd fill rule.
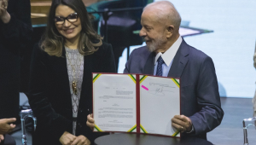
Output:
[[[8,48],[15,51],[20,48],[26,49],[32,39],[30,1],[10,0],[7,11],[11,15],[9,23],[4,24],[0,20],[0,32],[3,33],[4,41],[9,42]]]

